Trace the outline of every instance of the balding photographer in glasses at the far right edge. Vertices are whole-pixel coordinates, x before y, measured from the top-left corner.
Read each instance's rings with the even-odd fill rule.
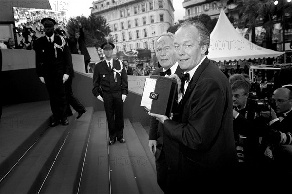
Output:
[[[274,91],[272,99],[276,111],[269,107],[270,111],[261,112],[270,120],[269,130],[262,142],[264,155],[269,161],[266,165],[270,174],[284,178],[285,181],[292,181],[292,91],[285,87],[278,88]],[[279,170],[279,167],[282,170]]]

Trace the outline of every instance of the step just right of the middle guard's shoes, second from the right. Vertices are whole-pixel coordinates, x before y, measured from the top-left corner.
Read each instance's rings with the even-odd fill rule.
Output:
[[[126,145],[128,148],[128,154],[130,157],[131,166],[136,177],[137,186],[140,194],[163,194],[164,192],[160,189],[157,184],[156,171],[153,169],[153,163],[155,160],[150,161],[146,149],[142,146],[139,137],[132,124],[128,119],[125,119],[124,125],[127,126],[124,129]],[[140,137],[142,138],[142,137]],[[143,141],[146,142],[148,137],[145,135]]]

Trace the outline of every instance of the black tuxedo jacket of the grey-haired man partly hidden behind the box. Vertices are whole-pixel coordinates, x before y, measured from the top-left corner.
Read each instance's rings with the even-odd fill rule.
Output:
[[[159,72],[163,72],[163,68],[160,67],[159,69],[155,70],[152,75],[159,75]],[[182,72],[184,72],[180,66],[178,65],[176,71],[174,72],[179,76],[181,79]],[[150,120],[150,130],[149,130],[149,140],[156,140],[156,153],[155,158],[158,159],[162,150],[163,145],[163,125],[158,120],[156,120],[154,117],[151,117]]]

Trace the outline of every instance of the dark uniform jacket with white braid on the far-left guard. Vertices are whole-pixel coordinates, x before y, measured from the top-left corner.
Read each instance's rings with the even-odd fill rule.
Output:
[[[63,41],[65,41],[64,38]],[[54,76],[56,74],[73,75],[72,56],[67,44],[65,44],[62,49],[56,48],[56,57],[54,49],[55,43],[57,45],[62,45],[62,37],[55,34],[53,43],[49,43],[46,36],[42,36],[34,41],[38,77]]]

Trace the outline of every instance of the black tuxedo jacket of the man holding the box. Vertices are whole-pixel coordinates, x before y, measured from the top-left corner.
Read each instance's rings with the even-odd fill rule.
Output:
[[[237,164],[228,79],[208,58],[196,70],[179,121],[165,120],[164,135],[179,143],[179,172],[200,178]]]

